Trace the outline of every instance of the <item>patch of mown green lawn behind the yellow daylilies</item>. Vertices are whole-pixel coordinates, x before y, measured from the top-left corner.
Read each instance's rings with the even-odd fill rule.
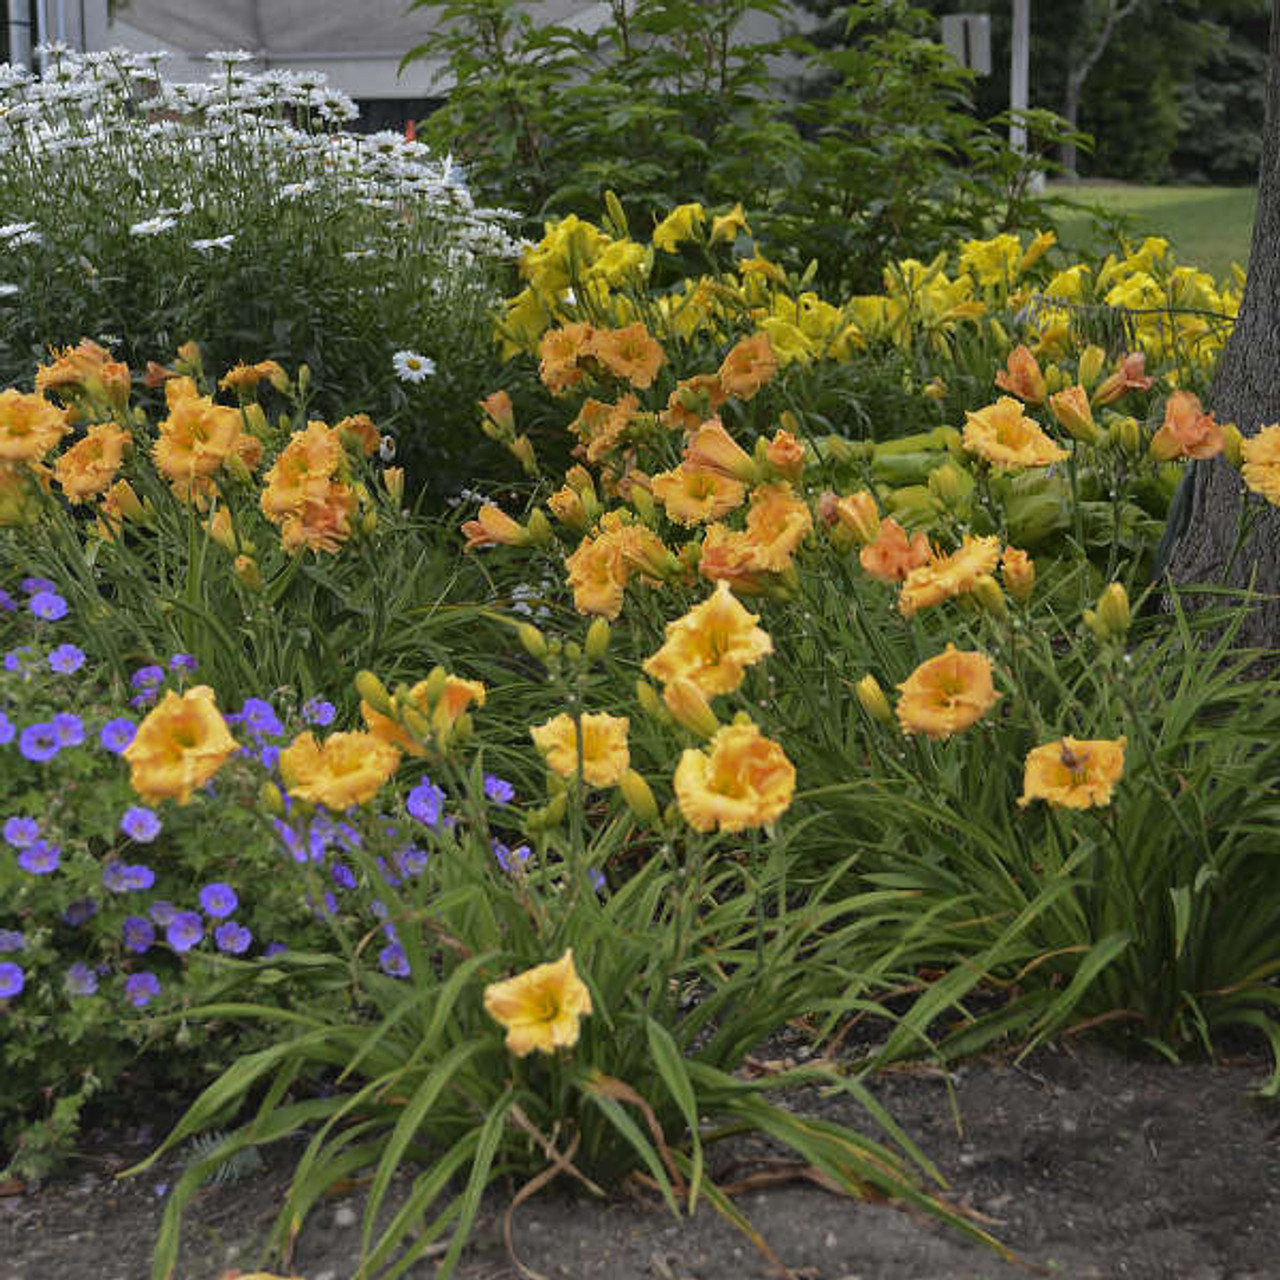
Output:
[[[1129,187],[1051,184],[1050,195],[1073,204],[1100,205],[1130,219],[1135,236],[1166,236],[1178,261],[1222,279],[1231,262],[1247,265],[1257,191],[1253,187]],[[1083,214],[1064,210],[1060,238],[1069,248],[1088,244]]]

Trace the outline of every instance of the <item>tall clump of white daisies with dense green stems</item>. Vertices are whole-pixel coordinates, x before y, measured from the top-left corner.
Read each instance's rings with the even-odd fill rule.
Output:
[[[55,54],[0,79],[0,381],[92,337],[141,370],[307,364],[315,403],[398,436],[411,492],[474,479],[458,448],[497,369],[488,342],[509,216],[397,134],[342,131],[320,73],[160,78],[159,55]],[[56,192],[56,200],[50,197]],[[393,356],[434,364],[420,385]]]

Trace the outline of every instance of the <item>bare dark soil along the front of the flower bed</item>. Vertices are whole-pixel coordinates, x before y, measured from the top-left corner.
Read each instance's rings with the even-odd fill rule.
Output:
[[[1261,1059],[1229,1065],[1135,1062],[1100,1050],[1048,1050],[1023,1068],[973,1062],[947,1082],[883,1076],[876,1092],[951,1180],[956,1203],[1042,1275],[1069,1280],[1280,1280],[1280,1108],[1252,1091]],[[856,1124],[856,1105],[792,1094],[797,1111]],[[138,1179],[113,1172],[145,1153],[132,1133],[99,1133],[70,1180],[0,1199],[0,1280],[146,1280],[175,1165]],[[741,1178],[771,1166],[763,1142],[736,1152]],[[255,1270],[287,1167],[200,1193],[175,1280]],[[804,1280],[1006,1280],[1034,1272],[932,1224],[838,1198],[812,1183],[740,1197],[769,1244]],[[516,1280],[498,1199],[465,1254],[463,1280]],[[358,1194],[324,1202],[303,1230],[293,1272],[352,1280]],[[635,1201],[595,1204],[554,1189],[516,1216],[521,1261],[548,1280],[746,1280],[764,1257],[703,1208],[691,1221]],[[287,1270],[276,1267],[276,1271]],[[412,1280],[433,1276],[430,1261]],[[776,1272],[772,1272],[776,1274]]]

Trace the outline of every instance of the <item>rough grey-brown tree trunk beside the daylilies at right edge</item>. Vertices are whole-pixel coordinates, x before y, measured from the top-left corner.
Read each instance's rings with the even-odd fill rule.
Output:
[[[1217,420],[1235,422],[1247,436],[1280,422],[1280,0],[1271,0],[1266,101],[1249,271],[1208,397]],[[1175,585],[1224,581],[1242,494],[1240,476],[1224,458],[1196,463],[1190,520],[1169,563]],[[1258,517],[1225,582],[1247,586],[1251,580],[1263,598],[1251,607],[1240,641],[1280,648],[1280,508],[1267,507]]]

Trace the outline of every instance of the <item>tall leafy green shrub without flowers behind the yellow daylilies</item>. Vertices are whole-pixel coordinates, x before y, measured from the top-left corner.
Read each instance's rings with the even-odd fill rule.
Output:
[[[741,202],[771,255],[817,261],[829,292],[1034,220],[1027,164],[901,0],[832,8],[831,47],[750,38],[785,31],[777,0],[612,0],[590,35],[535,27],[517,0],[422,6],[454,23],[408,55],[443,56],[457,83],[433,145],[463,157],[477,195],[538,218],[595,216],[612,189],[643,236],[677,204]]]

